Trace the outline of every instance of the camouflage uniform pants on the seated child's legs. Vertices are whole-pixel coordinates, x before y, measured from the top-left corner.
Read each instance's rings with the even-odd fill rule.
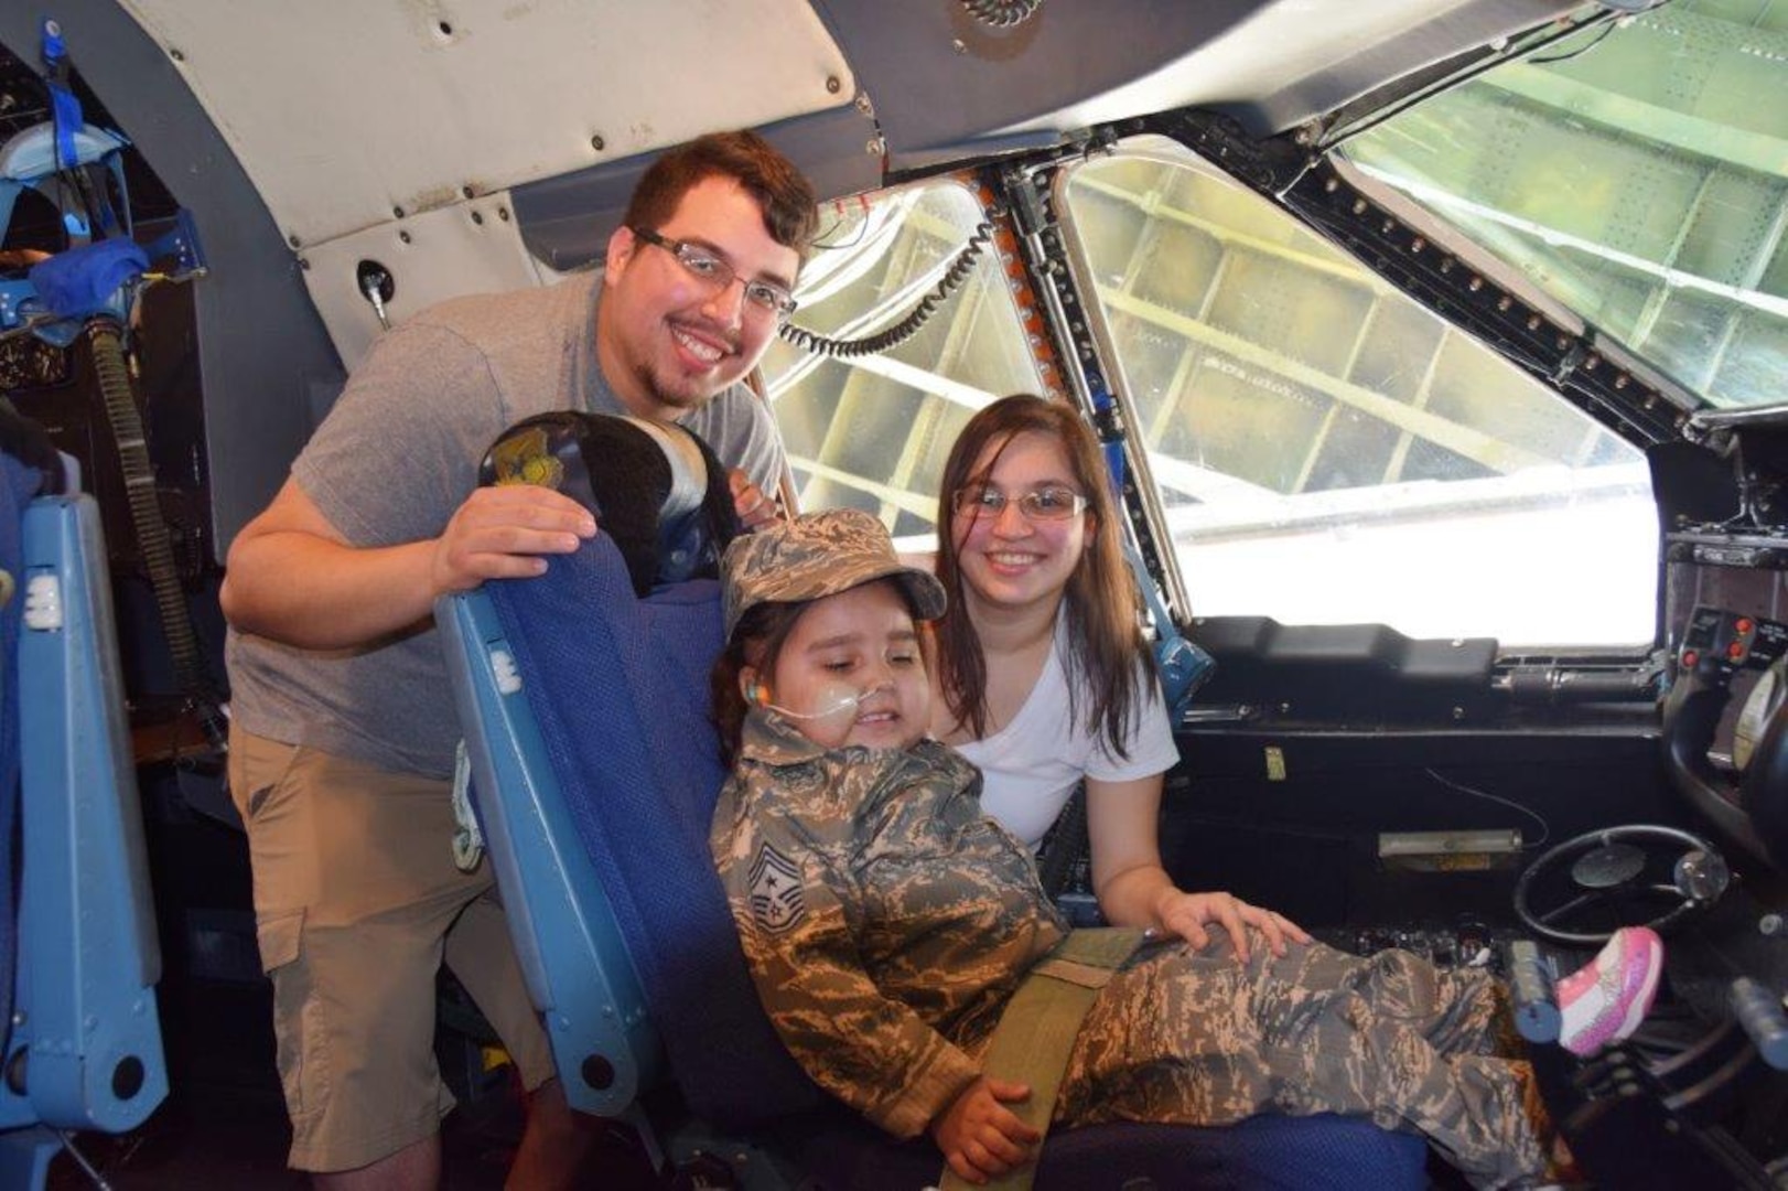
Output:
[[[1523,1109],[1531,1069],[1493,1053],[1489,975],[1321,944],[1273,959],[1259,933],[1243,966],[1228,935],[1210,933],[1203,951],[1144,953],[1105,987],[1075,1041],[1057,1123],[1354,1112],[1420,1130],[1473,1186],[1541,1175]]]

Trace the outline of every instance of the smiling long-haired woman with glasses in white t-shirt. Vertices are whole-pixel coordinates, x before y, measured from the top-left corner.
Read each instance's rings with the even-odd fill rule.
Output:
[[[985,776],[982,808],[1035,846],[1087,781],[1092,887],[1119,926],[1193,946],[1243,925],[1275,953],[1295,923],[1227,892],[1184,892],[1160,866],[1162,774],[1178,760],[1137,621],[1100,447],[1066,404],[1014,395],[962,429],[944,465],[932,735]]]

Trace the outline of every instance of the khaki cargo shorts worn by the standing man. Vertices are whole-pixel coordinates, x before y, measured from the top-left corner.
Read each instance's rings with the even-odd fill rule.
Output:
[[[229,785],[249,828],[293,1168],[354,1170],[440,1128],[454,1105],[434,1064],[443,959],[524,1085],[552,1077],[490,866],[452,862],[447,781],[232,726]]]

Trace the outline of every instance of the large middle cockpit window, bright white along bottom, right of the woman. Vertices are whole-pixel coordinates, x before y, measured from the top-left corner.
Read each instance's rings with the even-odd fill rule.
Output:
[[[1060,193],[1194,615],[1652,640],[1634,447],[1178,145]]]

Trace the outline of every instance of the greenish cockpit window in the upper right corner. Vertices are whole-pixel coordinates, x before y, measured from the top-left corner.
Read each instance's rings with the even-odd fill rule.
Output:
[[[1345,141],[1709,406],[1788,401],[1788,7],[1582,29]]]

